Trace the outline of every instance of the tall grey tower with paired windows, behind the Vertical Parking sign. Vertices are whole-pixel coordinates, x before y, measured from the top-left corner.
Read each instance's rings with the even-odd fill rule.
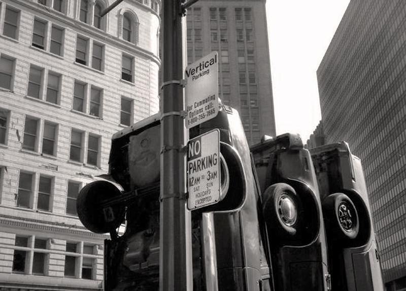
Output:
[[[265,0],[200,0],[187,11],[188,64],[219,55],[219,95],[239,110],[250,144],[275,136]]]

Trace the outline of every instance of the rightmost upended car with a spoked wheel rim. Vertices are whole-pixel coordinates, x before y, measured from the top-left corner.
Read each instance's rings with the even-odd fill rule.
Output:
[[[332,290],[383,290],[361,161],[345,142],[311,149],[328,241]]]

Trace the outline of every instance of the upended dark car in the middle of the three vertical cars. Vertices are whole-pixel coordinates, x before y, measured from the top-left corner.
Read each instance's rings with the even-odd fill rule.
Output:
[[[329,290],[327,244],[310,153],[284,134],[251,147],[276,290]]]

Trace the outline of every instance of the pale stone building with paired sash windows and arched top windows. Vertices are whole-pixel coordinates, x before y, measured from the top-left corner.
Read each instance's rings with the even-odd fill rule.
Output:
[[[113,2],[0,0],[0,290],[103,287],[76,198],[159,109],[160,2]]]

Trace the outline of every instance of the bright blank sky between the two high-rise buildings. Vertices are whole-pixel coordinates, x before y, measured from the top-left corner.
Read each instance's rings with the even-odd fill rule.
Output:
[[[317,68],[350,0],[267,0],[276,133],[306,143],[321,119]]]

